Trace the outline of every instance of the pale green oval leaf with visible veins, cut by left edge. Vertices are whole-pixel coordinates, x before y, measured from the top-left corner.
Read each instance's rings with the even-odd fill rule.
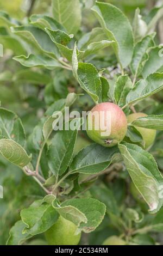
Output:
[[[21,168],[27,166],[32,159],[32,155],[28,156],[26,150],[12,139],[0,139],[0,153],[9,162]]]

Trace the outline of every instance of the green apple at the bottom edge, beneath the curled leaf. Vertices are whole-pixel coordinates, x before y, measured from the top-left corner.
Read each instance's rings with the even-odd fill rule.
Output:
[[[60,216],[58,221],[45,232],[48,245],[78,245],[81,233],[76,235],[77,226]]]

